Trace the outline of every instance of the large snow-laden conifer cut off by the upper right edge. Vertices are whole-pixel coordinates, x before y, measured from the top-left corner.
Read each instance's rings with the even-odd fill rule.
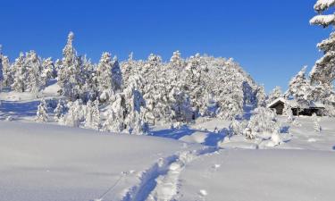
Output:
[[[318,15],[314,16],[310,23],[321,25],[323,28],[335,25],[335,13],[325,14],[334,6],[335,0],[317,0],[314,10]],[[310,73],[311,81],[331,85],[331,82],[335,80],[335,32],[332,32],[331,37],[323,40],[317,47],[324,55],[315,63]]]

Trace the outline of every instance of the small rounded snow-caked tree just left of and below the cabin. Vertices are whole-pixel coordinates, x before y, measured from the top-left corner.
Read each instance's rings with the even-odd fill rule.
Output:
[[[269,108],[258,107],[247,125],[247,128],[251,130],[251,136],[248,136],[248,138],[256,138],[263,133],[278,133],[280,127],[276,113]]]

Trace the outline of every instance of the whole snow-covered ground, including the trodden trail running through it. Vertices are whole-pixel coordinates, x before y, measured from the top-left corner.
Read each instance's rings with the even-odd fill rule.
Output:
[[[58,98],[55,85],[38,97]],[[33,122],[38,98],[0,93],[0,201],[335,200],[335,119],[289,126],[280,146],[225,137],[229,121],[130,136]],[[10,118],[9,118],[10,116]],[[216,128],[216,129],[215,129]]]

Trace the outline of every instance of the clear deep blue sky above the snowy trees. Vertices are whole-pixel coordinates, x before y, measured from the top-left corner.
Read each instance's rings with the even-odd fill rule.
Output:
[[[150,53],[233,57],[267,91],[320,57],[330,29],[312,27],[314,0],[15,0],[2,1],[0,44],[17,57],[36,50],[60,58],[66,36],[97,62],[104,51],[125,59]]]

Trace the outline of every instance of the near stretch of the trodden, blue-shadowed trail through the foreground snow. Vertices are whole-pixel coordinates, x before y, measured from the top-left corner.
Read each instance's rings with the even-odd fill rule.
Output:
[[[168,201],[177,194],[180,172],[185,165],[200,155],[213,153],[218,148],[202,147],[191,151],[180,151],[161,158],[139,176],[139,184],[129,188],[121,201]]]

